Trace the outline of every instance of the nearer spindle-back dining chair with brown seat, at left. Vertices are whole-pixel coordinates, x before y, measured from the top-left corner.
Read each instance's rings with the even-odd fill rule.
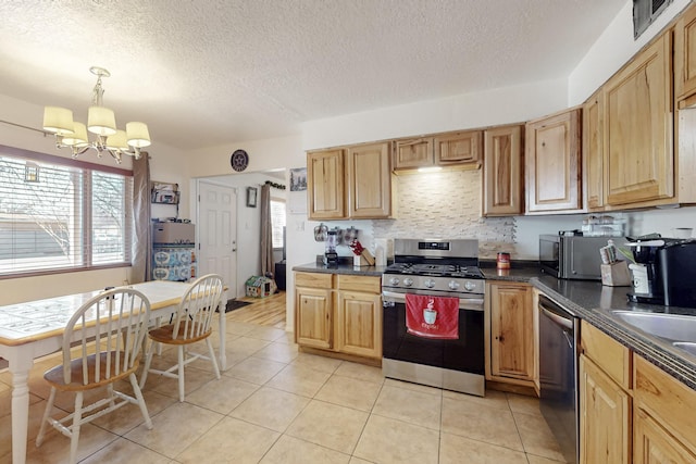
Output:
[[[70,463],[75,463],[80,426],[127,403],[137,404],[146,426],[152,428],[135,375],[149,318],[147,297],[128,288],[104,291],[75,312],[63,335],[62,364],[44,374],[51,392],[36,437],[37,447],[44,441],[46,426],[51,425],[70,437]],[[130,380],[135,397],[114,389],[114,383],[125,378]],[[84,405],[84,393],[97,388],[105,388],[105,398]],[[75,393],[75,411],[60,419],[51,417],[59,390]]]

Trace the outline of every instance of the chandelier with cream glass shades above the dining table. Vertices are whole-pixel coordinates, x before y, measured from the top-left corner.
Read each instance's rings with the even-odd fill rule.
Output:
[[[117,129],[113,110],[102,104],[104,89],[101,87],[101,78],[111,76],[111,73],[98,66],[92,66],[89,71],[97,76],[97,84],[92,90],[91,106],[87,113],[87,126],[84,123],[73,121],[71,110],[46,106],[44,109],[44,130],[55,135],[57,148],[72,149],[73,158],[94,148],[99,158],[105,151],[119,164],[121,164],[123,154],[139,160],[140,149],[150,145],[147,124],[132,122],[126,124],[125,130]],[[95,140],[89,141],[88,130],[96,135]]]

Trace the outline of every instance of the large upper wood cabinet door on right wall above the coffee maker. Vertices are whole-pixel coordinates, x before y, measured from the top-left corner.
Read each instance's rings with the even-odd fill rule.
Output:
[[[674,196],[671,57],[668,32],[604,86],[608,204]]]

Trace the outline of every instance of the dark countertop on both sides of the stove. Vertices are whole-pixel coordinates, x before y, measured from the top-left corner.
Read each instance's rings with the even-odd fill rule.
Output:
[[[309,263],[293,271],[381,276],[386,266],[353,267],[348,261],[337,266]],[[657,365],[672,377],[696,390],[696,355],[672,347],[671,342],[636,329],[612,313],[614,310],[696,316],[696,309],[632,303],[626,293],[630,287],[607,287],[600,281],[557,279],[539,271],[535,262],[517,262],[506,271],[498,271],[494,262],[481,262],[487,280],[527,283],[575,316],[585,319],[635,353]]]

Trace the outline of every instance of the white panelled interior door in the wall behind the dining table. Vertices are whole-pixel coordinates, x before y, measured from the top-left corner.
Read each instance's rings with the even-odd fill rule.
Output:
[[[237,296],[237,193],[234,188],[198,183],[199,275],[220,274]]]

